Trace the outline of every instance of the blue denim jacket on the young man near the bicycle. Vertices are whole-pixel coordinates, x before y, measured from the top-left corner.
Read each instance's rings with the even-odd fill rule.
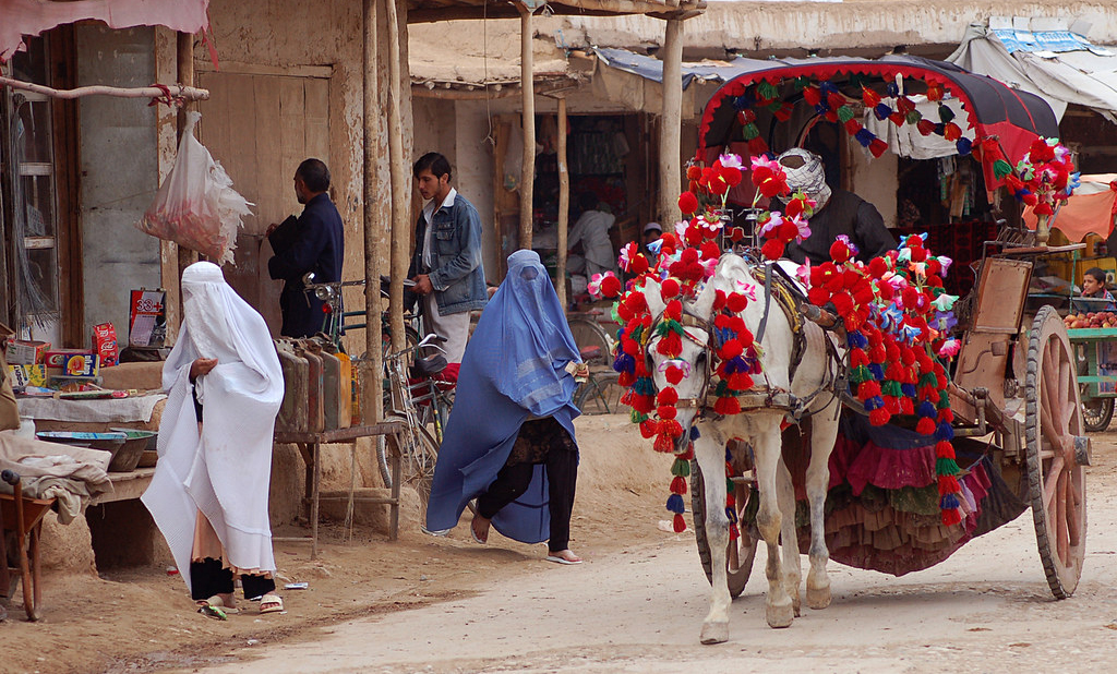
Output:
[[[451,205],[435,211],[431,223],[435,225],[431,237],[435,264],[428,269],[422,261],[427,219],[420,213],[408,278],[419,273],[430,277],[438,312],[442,316],[484,309],[488,293],[481,267],[481,219],[477,209],[459,193]]]

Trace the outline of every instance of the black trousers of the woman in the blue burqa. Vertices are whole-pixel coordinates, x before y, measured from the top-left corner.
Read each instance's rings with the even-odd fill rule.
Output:
[[[553,449],[547,452],[547,492],[550,495],[551,538],[547,550],[558,552],[570,547],[570,517],[574,510],[574,490],[577,483],[577,452]],[[496,474],[488,491],[477,497],[477,512],[493,519],[502,508],[518,499],[532,482],[535,465],[517,463],[505,465]]]

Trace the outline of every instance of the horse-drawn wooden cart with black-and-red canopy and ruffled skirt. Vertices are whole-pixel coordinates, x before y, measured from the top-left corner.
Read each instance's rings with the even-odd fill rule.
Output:
[[[796,128],[809,128],[815,110],[819,117],[828,114],[836,117],[829,121],[839,132],[844,127],[851,136],[856,133],[857,141],[879,156],[879,143],[884,139],[865,135],[858,123],[861,117],[855,117],[851,124],[848,113],[841,114],[842,109],[850,102],[859,106],[863,98],[863,109],[872,110],[873,100],[886,99],[884,108],[876,104],[878,118],[900,113],[898,119],[892,119],[897,126],[905,123],[914,126],[918,116],[914,118],[910,109],[905,110],[897,103],[905,97],[904,92],[926,93],[930,100],[936,100],[943,98],[945,90],[949,94],[947,98],[961,99],[967,118],[955,123],[966,129],[972,141],[958,138],[957,132],[948,128],[945,114],[932,121],[930,133],[943,134],[949,141],[958,138],[962,154],[968,154],[971,145],[983,145],[981,167],[990,190],[1005,182],[1002,163],[1014,166],[1037,137],[1058,136],[1054,116],[1041,99],[949,64],[897,56],[879,60],[750,61],[743,67],[746,71],[727,81],[703,115],[698,156],[707,164],[724,152],[747,157],[768,151],[770,145],[795,144],[803,133],[793,131],[780,136],[776,127],[790,121]],[[894,86],[900,80],[901,86]],[[834,112],[839,114],[833,115]],[[923,122],[927,119],[920,122],[920,132],[925,131]],[[748,160],[744,163],[747,165]],[[1090,386],[1090,394],[1096,397],[1099,385],[1117,377],[1101,377],[1098,368],[1091,366],[1088,375],[1079,379],[1079,359],[1063,318],[1050,306],[1039,307],[1034,315],[1028,308],[1035,260],[1056,252],[1047,245],[1046,221],[1040,218],[1035,232],[1019,223],[1006,225],[1006,235],[990,242],[987,254],[980,253],[974,288],[960,302],[961,308],[956,308],[961,350],[949,373],[948,393],[954,446],[963,470],[960,481],[967,498],[972,498],[973,517],[961,524],[944,526],[929,512],[919,510],[918,499],[911,494],[928,489],[934,493],[929,482],[909,479],[909,474],[925,470],[923,460],[917,458],[919,447],[910,452],[880,447],[886,441],[880,440],[882,432],[876,430],[871,431],[876,433],[872,442],[847,440],[842,445],[840,437],[840,446],[831,456],[827,502],[825,532],[831,559],[899,576],[939,564],[965,542],[1031,508],[1038,550],[1052,595],[1065,598],[1075,591],[1085,559],[1085,466],[1090,456],[1079,402],[1080,383]],[[1094,339],[1094,333],[1075,330],[1071,335],[1076,339]],[[1117,330],[1107,330],[1106,336],[1109,335],[1117,335]],[[1111,397],[1109,403],[1111,412]],[[852,417],[843,426],[847,437],[859,432],[859,415],[853,412],[847,404],[843,424],[847,417]],[[809,436],[810,431],[803,433]],[[800,495],[805,462],[796,462],[794,456],[802,442],[798,429],[784,433],[784,459],[801,508],[805,503]],[[729,451],[734,458],[731,468],[736,471],[731,479],[737,493],[737,516],[743,523],[739,538],[729,543],[727,560],[728,584],[736,596],[748,578],[757,541],[755,529],[748,528],[755,513],[756,482],[747,456],[738,460],[747,452],[732,446]],[[934,452],[929,456],[934,464]],[[908,468],[913,471],[899,470]],[[703,475],[696,469],[694,464],[691,503],[699,555],[710,577]],[[934,471],[930,475],[933,480]],[[936,497],[930,499],[932,509],[937,512]],[[805,522],[800,524],[801,549],[805,550],[809,531]]]

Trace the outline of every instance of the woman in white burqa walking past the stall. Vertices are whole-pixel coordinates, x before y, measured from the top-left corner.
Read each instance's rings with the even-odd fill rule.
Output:
[[[163,366],[159,463],[143,502],[199,605],[236,612],[233,576],[260,613],[283,610],[268,522],[283,370],[264,318],[221,268],[182,272],[182,329]]]

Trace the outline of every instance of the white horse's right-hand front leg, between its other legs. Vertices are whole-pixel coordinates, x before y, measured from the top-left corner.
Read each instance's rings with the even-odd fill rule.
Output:
[[[783,564],[780,560],[780,529],[783,517],[779,507],[776,480],[781,455],[781,416],[765,413],[756,413],[756,416],[761,417],[753,421],[753,427],[756,430],[753,434],[756,482],[761,494],[756,527],[767,543],[765,575],[768,580],[768,594],[764,613],[770,626],[789,627],[794,619],[794,608],[784,586]]]

